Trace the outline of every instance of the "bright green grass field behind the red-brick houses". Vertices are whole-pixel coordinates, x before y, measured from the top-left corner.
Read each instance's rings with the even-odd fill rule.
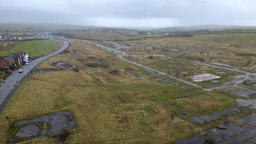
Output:
[[[2,45],[4,43],[8,42],[1,42]],[[28,52],[28,55],[31,57],[38,58],[60,48],[61,45],[62,42],[54,40],[33,40],[25,41],[24,43],[15,41],[13,44],[10,44],[10,46],[8,45],[8,50],[3,47],[0,51],[0,56],[4,57],[12,53],[22,51]]]

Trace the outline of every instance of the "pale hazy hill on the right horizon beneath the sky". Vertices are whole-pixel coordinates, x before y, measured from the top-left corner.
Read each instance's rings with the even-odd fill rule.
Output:
[[[152,29],[155,31],[194,31],[200,29],[208,29],[208,30],[223,30],[223,29],[252,29],[256,28],[256,26],[232,26],[232,25],[199,25],[199,26],[186,26],[186,27],[166,27],[159,29]]]

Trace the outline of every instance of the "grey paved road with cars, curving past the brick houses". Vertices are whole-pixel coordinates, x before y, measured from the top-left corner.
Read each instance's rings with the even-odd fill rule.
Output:
[[[18,73],[18,69],[12,71],[12,75],[8,76],[4,81],[5,83],[1,82],[2,86],[0,87],[0,105],[3,103],[6,96],[11,92],[16,82],[20,81],[24,78],[30,70],[32,70],[36,65],[41,63],[42,61],[49,59],[50,57],[62,52],[64,49],[68,48],[68,44],[66,41],[62,41],[63,45],[55,52],[52,52],[46,56],[40,57],[36,60],[33,60],[29,63],[29,65],[24,65],[20,69],[23,69],[22,73]],[[0,112],[1,113],[1,112]]]

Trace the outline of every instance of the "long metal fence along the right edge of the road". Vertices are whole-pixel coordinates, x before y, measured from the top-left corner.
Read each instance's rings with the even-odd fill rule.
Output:
[[[64,45],[64,43],[62,44],[62,46],[63,46],[63,45]],[[62,48],[62,46],[61,46],[60,48]],[[67,48],[68,48],[68,47],[67,47]],[[66,48],[65,48],[65,49],[66,49]],[[65,50],[65,49],[64,49],[64,50]],[[59,49],[58,49],[58,50],[59,50]],[[62,51],[61,51],[61,52],[62,52]],[[46,56],[44,57],[44,59],[41,60],[41,62],[43,62],[43,61],[49,59],[50,57],[53,57],[53,56],[59,54],[59,53],[60,53],[60,52],[57,52],[57,53],[52,52],[52,53],[46,55]],[[21,78],[21,80],[20,80],[17,84],[15,84],[15,86],[13,87],[13,89],[9,92],[9,94],[5,97],[4,101],[3,101],[3,102],[1,103],[1,105],[0,105],[0,115],[2,114],[2,111],[4,110],[5,106],[6,106],[6,105],[8,104],[8,102],[11,100],[13,94],[18,90],[18,88],[20,87],[20,85],[22,84],[22,82],[23,82],[26,78],[29,77],[29,74],[33,73],[33,71],[36,70],[36,67],[37,67],[41,62],[39,62],[36,66],[34,66],[34,67],[27,73],[26,76],[24,76],[23,78]]]

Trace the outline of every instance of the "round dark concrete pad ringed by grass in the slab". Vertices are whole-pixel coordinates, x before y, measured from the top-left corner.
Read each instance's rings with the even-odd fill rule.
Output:
[[[20,128],[20,130],[16,133],[17,137],[20,138],[29,138],[32,136],[36,136],[39,132],[40,128],[36,124],[28,124]]]

